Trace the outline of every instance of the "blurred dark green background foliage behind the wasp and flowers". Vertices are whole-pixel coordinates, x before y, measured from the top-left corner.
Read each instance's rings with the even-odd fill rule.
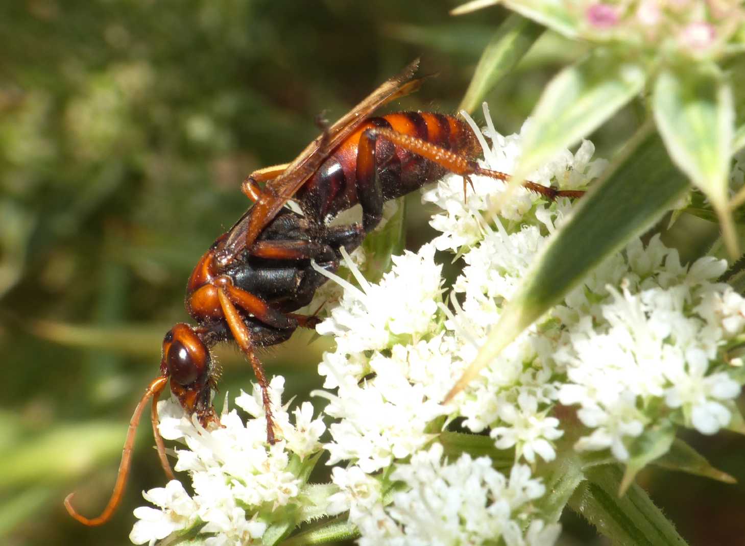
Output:
[[[162,335],[188,318],[191,267],[247,207],[241,180],[292,159],[317,134],[317,114],[337,118],[420,55],[421,73],[440,77],[397,107],[454,112],[506,16],[453,19],[456,4],[2,2],[0,544],[128,544],[139,491],[164,483],[147,424],[110,524],[82,527],[62,500],[77,490],[86,515],[107,501]],[[543,36],[489,96],[498,130],[519,130],[545,82],[581,51]],[[595,135],[599,154],[636,121],[627,109]],[[411,203],[416,248],[431,232],[419,198]],[[287,377],[286,398],[320,386],[326,343],[301,334],[261,355]],[[247,387],[240,355],[219,357],[223,393]],[[688,440],[745,480],[741,438]],[[745,544],[741,487],[682,474],[642,481],[692,545]],[[565,528],[567,545],[602,544],[577,516]]]

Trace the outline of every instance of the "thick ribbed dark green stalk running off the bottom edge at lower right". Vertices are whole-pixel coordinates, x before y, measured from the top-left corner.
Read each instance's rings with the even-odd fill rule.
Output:
[[[621,470],[597,466],[586,471],[587,481],[569,499],[569,506],[617,546],[683,546],[673,523],[633,484],[618,497]]]

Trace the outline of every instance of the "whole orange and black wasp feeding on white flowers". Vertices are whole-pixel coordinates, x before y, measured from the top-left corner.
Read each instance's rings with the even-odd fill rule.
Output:
[[[317,318],[298,314],[308,305],[326,276],[312,267],[335,272],[342,255],[355,250],[380,223],[383,204],[443,177],[483,175],[509,180],[507,174],[482,168],[475,161],[478,142],[470,127],[451,115],[398,112],[372,117],[384,104],[419,89],[425,78],[413,79],[419,60],[379,86],[355,108],[314,139],[286,165],[250,174],[241,191],[253,206],[200,258],[188,279],[186,310],[195,326],[179,323],[165,334],[160,375],[148,385],[130,421],[114,491],[96,518],[65,506],[83,524],[108,521],[121,497],[129,472],[134,432],[152,399],[150,420],[163,469],[173,477],[157,430],[156,402],[168,381],[186,413],[205,428],[219,426],[212,406],[218,375],[210,349],[235,343],[244,353],[261,386],[267,421],[267,442],[276,442],[275,425],[264,367],[257,347],[287,340],[297,328],[314,328]],[[558,191],[533,182],[524,185],[550,200],[579,197],[581,191]],[[285,205],[293,200],[302,212]],[[329,226],[335,216],[361,205],[361,222]],[[280,431],[281,433],[281,431]]]

